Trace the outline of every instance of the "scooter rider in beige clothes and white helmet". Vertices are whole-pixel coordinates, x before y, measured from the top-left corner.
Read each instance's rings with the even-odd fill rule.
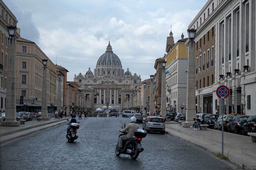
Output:
[[[122,132],[122,133],[128,131],[128,134],[120,136],[118,150],[122,150],[123,141],[126,141],[131,137],[133,137],[135,130],[139,129],[139,125],[136,124],[136,117],[131,117],[130,120],[131,120],[131,123],[129,123],[124,129],[119,130],[119,132]]]

